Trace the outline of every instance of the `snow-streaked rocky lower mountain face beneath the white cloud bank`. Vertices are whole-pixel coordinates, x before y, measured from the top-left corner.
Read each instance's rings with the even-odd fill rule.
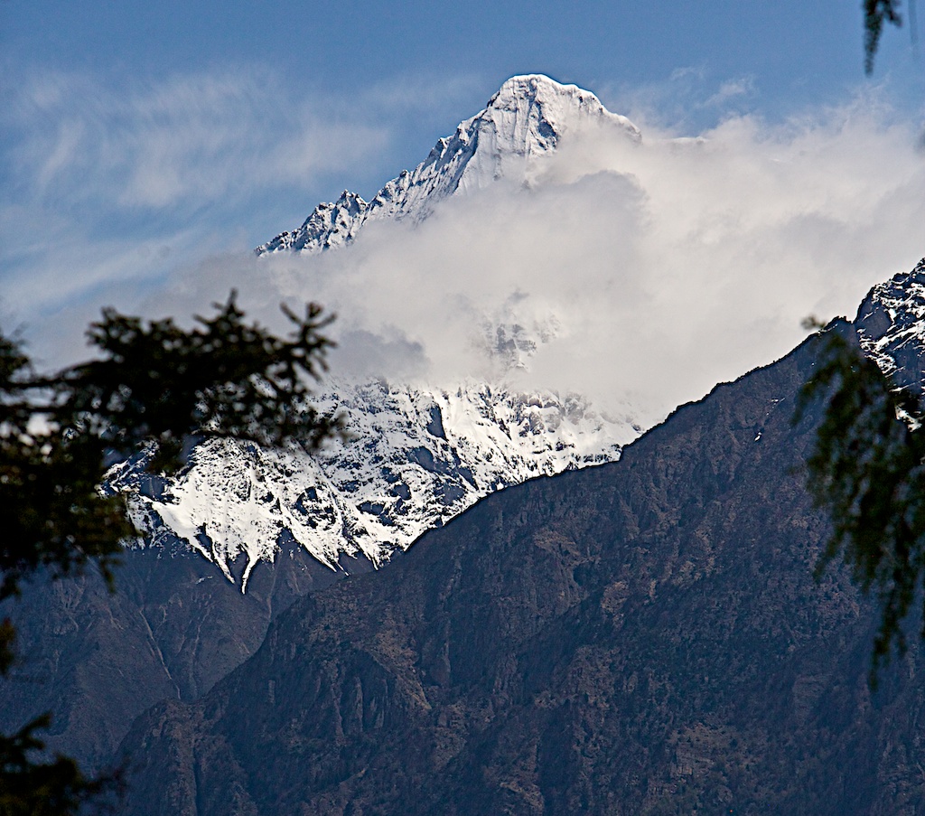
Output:
[[[152,488],[120,465],[133,520],[156,545],[185,540],[234,581],[231,565],[272,561],[294,540],[332,569],[378,565],[488,493],[527,478],[618,458],[638,436],[629,418],[593,412],[575,396],[519,394],[469,383],[455,390],[333,383],[317,401],[352,439],[311,455],[210,440],[180,476]]]

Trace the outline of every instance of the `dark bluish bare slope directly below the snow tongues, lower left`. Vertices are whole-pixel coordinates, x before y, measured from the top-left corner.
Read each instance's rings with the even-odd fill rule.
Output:
[[[371,568],[352,560],[345,567]],[[99,767],[142,711],[165,698],[196,699],[253,654],[293,600],[341,575],[292,547],[257,566],[245,595],[240,580],[229,583],[177,545],[126,550],[114,593],[89,571],[27,584],[21,599],[0,605],[19,644],[19,663],[2,684],[0,729],[52,711],[49,748]]]

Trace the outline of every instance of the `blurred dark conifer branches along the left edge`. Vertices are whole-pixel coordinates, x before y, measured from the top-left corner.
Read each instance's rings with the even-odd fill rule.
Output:
[[[308,304],[285,306],[280,338],[245,321],[232,291],[193,328],[112,309],[87,332],[94,358],[38,374],[21,340],[0,333],[0,600],[43,571],[52,578],[93,560],[110,584],[135,533],[123,498],[105,488],[108,465],[139,453],[154,475],[175,473],[191,441],[209,436],[314,449],[339,433],[309,402],[327,369],[333,319]],[[0,624],[0,677],[14,662],[16,632]],[[82,812],[117,790],[119,774],[84,776],[49,759],[39,734],[50,715],[0,735],[0,816]]]

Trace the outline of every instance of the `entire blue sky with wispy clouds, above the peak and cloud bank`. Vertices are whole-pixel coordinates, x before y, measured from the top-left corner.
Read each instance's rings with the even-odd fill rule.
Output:
[[[870,108],[911,143],[921,59],[891,28],[865,78],[859,6],[0,0],[0,325],[79,337],[100,305],[134,309],[345,188],[371,196],[516,73],[586,87],[644,133],[751,122],[726,132],[756,152]],[[876,163],[891,134],[845,162]]]

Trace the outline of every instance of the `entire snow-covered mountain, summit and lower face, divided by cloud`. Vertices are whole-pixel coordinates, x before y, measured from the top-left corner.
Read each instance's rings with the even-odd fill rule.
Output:
[[[257,253],[322,252],[353,241],[370,221],[418,223],[450,196],[499,181],[539,185],[564,142],[600,128],[640,141],[593,93],[540,75],[513,77],[371,201],[344,191]],[[109,487],[128,494],[146,538],[185,542],[243,590],[258,563],[292,544],[332,570],[378,565],[494,490],[617,459],[642,430],[631,406],[603,414],[581,395],[523,385],[539,347],[562,330],[555,314],[524,313],[524,296],[515,291],[499,308],[474,313],[487,380],[329,379],[314,402],[341,415],[350,439],[314,453],[206,439],[174,478],[145,476],[136,459],[113,468]]]

